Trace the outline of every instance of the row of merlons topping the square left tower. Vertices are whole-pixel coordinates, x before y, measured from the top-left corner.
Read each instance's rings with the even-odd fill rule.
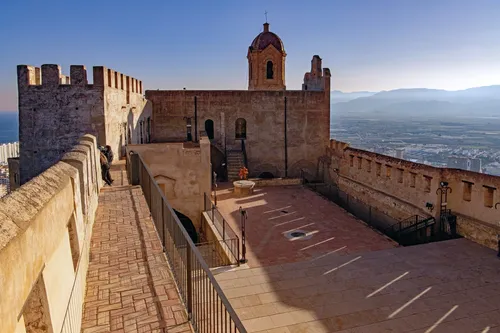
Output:
[[[120,89],[137,94],[144,92],[142,81],[104,66],[94,66],[93,76],[93,86],[96,87]],[[62,74],[60,65],[44,64],[41,67],[18,65],[17,82],[20,91],[28,89],[30,86],[91,85],[88,83],[87,69],[83,65],[71,65],[69,76]]]

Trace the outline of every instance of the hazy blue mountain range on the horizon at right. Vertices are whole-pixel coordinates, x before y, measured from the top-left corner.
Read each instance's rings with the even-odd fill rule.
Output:
[[[333,91],[331,96],[332,113],[337,116],[500,117],[500,85],[458,91],[423,88],[377,93]]]

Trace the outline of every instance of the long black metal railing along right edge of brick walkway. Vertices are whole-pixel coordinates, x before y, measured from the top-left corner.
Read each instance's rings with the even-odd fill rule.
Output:
[[[195,332],[246,333],[200,250],[182,226],[148,166],[140,156],[135,158],[135,162],[132,158],[129,162],[132,171],[139,170],[138,185],[146,198],[158,237]]]

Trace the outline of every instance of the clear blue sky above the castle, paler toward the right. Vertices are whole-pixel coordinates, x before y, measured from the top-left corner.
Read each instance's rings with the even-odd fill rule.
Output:
[[[246,89],[265,10],[288,54],[288,89],[314,54],[335,90],[500,83],[499,0],[5,0],[0,110],[17,108],[17,64],[104,65],[146,89]]]

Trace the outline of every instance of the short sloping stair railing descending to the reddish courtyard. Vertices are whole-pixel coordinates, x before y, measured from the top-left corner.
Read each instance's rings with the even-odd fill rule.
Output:
[[[204,193],[205,204],[204,212],[208,214],[208,217],[212,220],[212,223],[222,238],[224,248],[231,254],[231,264],[239,265],[240,259],[240,238],[238,234],[231,228],[227,223],[226,219],[217,209],[217,206],[212,202],[210,196]]]

